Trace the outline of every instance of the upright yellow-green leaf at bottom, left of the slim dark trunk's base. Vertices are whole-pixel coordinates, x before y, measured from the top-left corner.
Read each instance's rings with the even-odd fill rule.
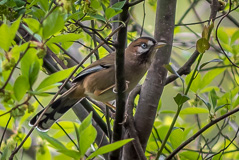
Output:
[[[95,141],[96,135],[96,129],[92,125],[88,126],[83,132],[80,133],[80,151],[82,156]]]

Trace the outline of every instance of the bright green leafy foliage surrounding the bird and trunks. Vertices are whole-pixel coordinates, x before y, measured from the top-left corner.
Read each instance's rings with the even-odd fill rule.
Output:
[[[156,1],[143,3],[143,6],[146,5],[152,10],[153,13],[149,14],[154,16]],[[188,1],[183,1],[178,8],[185,4],[191,6],[187,3]],[[175,75],[179,80],[170,83],[161,98],[159,114],[146,147],[145,155],[149,159],[157,157],[157,154],[162,158],[163,155],[169,155],[208,123],[238,108],[238,66],[232,65],[228,59],[238,65],[239,30],[238,21],[234,17],[239,12],[239,4],[232,1],[231,7],[237,9],[230,11],[230,4],[220,3],[225,12],[230,12],[227,15],[231,16],[227,22],[233,23],[230,27],[223,24],[216,28],[217,23],[210,21],[209,25],[205,23],[200,27],[201,23],[198,23],[191,28],[190,25],[185,27],[180,22],[175,28],[174,40],[181,48],[174,48],[174,65],[166,65],[165,68],[170,71],[170,75]],[[116,22],[124,23],[114,20],[113,17],[122,13],[126,4],[126,1],[120,1],[110,5],[109,1],[101,0],[0,2],[0,133],[3,133],[0,135],[3,139],[0,141],[1,160],[8,159],[16,145],[19,146],[21,142],[24,142],[21,149],[35,153],[35,157],[30,157],[31,159],[93,159],[102,158],[134,141],[130,138],[104,145],[99,143],[97,127],[101,127],[106,141],[111,142],[113,120],[110,122],[108,113],[100,110],[97,104],[92,104],[94,112],[85,116],[81,123],[68,115],[65,117],[67,121],[54,124],[49,132],[36,132],[24,141],[30,129],[27,123],[37,112],[37,108],[47,106],[57,87],[70,76],[75,69],[72,61],[75,61],[74,64],[76,61],[79,63],[79,56],[77,59],[74,58],[74,54],[69,54],[73,44],[80,45],[77,50],[81,56],[88,55],[89,51],[100,43],[97,38],[102,40],[102,37],[107,37]],[[201,5],[209,7],[207,2]],[[154,21],[151,17],[146,16],[150,23],[145,23],[144,28],[139,27],[143,17],[143,12],[139,12],[139,6],[140,4],[132,6],[130,10],[133,18],[128,24],[128,40],[139,37],[141,29],[144,29],[145,34],[152,36],[153,33],[151,30]],[[180,10],[182,17],[185,17],[184,12],[184,9]],[[191,20],[195,19],[194,15],[189,15],[190,23],[193,23]],[[200,18],[198,20],[201,21]],[[24,35],[19,29],[27,34]],[[185,32],[190,35],[186,40],[181,36]],[[192,36],[194,38],[191,38]],[[190,41],[187,38],[190,38]],[[99,48],[84,66],[104,57],[107,51],[112,51],[111,43],[109,41],[106,44],[108,47]],[[199,56],[191,68],[192,72],[179,74],[175,66],[183,66],[189,59],[193,50],[187,48],[191,46],[195,46],[193,49]],[[51,63],[48,63],[49,60]],[[135,105],[137,104],[136,98]],[[181,149],[178,154],[180,159],[207,159],[210,156],[213,159],[238,159],[238,142],[234,141],[238,133],[238,127],[235,129],[239,122],[237,114],[224,118],[222,122],[201,133],[195,143],[192,142],[187,149]],[[172,118],[174,115],[176,116]],[[102,121],[99,122],[97,116]],[[98,126],[101,122],[108,128]],[[5,132],[2,132],[4,129],[10,135],[8,138],[4,135]],[[36,151],[32,150],[33,141],[37,142]],[[27,157],[25,153],[17,154],[17,158],[21,156],[24,159]]]

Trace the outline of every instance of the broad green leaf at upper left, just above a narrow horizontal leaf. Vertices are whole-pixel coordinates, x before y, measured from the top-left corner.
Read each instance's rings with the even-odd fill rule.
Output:
[[[43,22],[43,39],[47,39],[51,35],[62,30],[64,27],[64,20],[59,11],[54,11]]]

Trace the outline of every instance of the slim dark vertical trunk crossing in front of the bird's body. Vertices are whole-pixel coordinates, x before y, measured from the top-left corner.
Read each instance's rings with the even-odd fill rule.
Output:
[[[126,2],[127,3],[127,2]],[[125,72],[124,72],[124,52],[127,42],[127,20],[128,20],[128,7],[123,7],[120,13],[119,20],[125,22],[126,26],[121,28],[118,32],[117,45],[116,45],[116,59],[115,59],[115,83],[116,83],[116,116],[113,128],[113,142],[122,139],[122,122],[124,121],[125,114]],[[110,153],[111,160],[121,158],[121,148]]]

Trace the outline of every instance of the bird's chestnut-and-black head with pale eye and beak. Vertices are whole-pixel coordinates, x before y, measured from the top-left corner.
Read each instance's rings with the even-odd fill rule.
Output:
[[[126,48],[126,54],[130,54],[130,57],[136,57],[139,63],[145,63],[151,61],[155,52],[165,45],[166,43],[157,42],[151,37],[140,37]]]

